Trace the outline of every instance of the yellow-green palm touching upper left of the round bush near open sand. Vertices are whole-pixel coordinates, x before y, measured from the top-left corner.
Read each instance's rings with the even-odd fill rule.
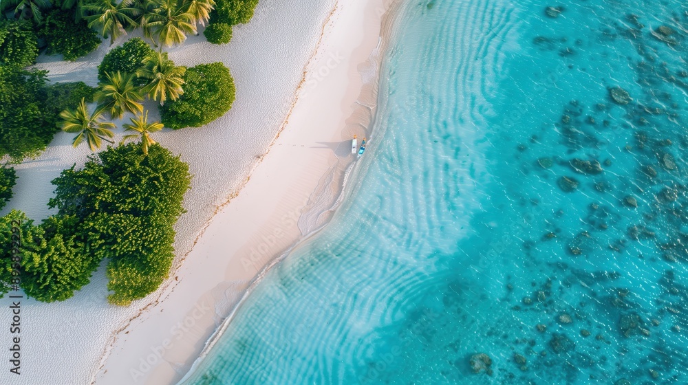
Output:
[[[184,72],[186,68],[175,66],[174,62],[167,58],[167,52],[157,52],[144,61],[144,66],[136,72],[136,76],[149,80],[142,91],[153,100],[160,99],[162,106],[167,99],[177,100],[184,94]]]

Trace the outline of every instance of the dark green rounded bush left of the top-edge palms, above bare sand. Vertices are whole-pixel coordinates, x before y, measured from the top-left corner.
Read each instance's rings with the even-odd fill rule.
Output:
[[[88,28],[86,21],[74,21],[72,12],[52,10],[40,32],[47,45],[47,54],[62,54],[67,61],[75,61],[98,48],[100,38]]]

